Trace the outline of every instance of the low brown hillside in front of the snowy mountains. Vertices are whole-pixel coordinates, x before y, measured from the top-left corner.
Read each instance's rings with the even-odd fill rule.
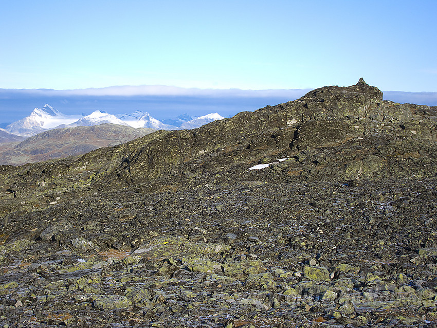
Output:
[[[23,165],[53,158],[82,155],[101,147],[131,141],[153,131],[155,130],[135,129],[131,126],[116,124],[49,130],[18,144],[16,142],[3,144],[0,147],[0,165]]]

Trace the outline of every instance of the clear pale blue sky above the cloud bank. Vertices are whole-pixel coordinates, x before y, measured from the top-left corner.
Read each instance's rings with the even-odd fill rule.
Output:
[[[0,88],[437,91],[437,1],[1,0]]]

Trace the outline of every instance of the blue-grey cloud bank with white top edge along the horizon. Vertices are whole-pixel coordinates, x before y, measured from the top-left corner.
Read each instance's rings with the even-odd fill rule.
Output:
[[[0,89],[0,127],[26,117],[35,107],[50,104],[64,114],[88,115],[148,112],[158,120],[187,113],[202,116],[219,113],[230,117],[298,99],[311,89],[199,89],[166,85],[113,86],[77,90]],[[384,92],[384,99],[400,103],[437,105],[437,92]],[[2,124],[3,123],[3,124]]]

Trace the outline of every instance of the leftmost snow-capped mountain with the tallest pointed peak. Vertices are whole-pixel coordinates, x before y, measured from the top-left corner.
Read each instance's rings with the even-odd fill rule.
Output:
[[[61,124],[76,122],[81,117],[81,115],[64,115],[46,104],[43,108],[35,108],[29,116],[7,125],[5,130],[15,135],[29,137]]]

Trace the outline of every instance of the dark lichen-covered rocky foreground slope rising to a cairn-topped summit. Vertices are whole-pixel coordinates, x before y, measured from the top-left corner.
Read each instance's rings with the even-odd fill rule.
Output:
[[[360,79],[1,166],[2,326],[435,327],[436,118]]]

